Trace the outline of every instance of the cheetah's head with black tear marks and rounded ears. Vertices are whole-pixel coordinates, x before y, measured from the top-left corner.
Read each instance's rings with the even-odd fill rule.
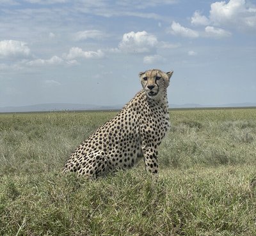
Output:
[[[148,98],[155,99],[159,94],[166,92],[172,74],[173,71],[164,73],[163,71],[156,69],[141,72],[139,74],[141,85]]]

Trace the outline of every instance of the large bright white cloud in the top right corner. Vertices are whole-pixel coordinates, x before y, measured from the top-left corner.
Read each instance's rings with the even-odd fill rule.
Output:
[[[210,16],[214,24],[219,26],[256,27],[256,7],[248,7],[245,0],[230,0],[211,4]]]

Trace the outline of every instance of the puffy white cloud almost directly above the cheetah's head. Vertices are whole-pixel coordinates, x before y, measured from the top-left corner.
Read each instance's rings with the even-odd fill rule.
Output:
[[[156,47],[158,41],[156,36],[148,34],[146,31],[139,31],[134,33],[133,31],[125,33],[122,41],[119,43],[118,48],[122,52],[150,52]]]

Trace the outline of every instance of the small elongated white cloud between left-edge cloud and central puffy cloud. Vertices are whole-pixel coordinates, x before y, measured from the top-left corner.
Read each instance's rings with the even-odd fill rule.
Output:
[[[102,58],[104,57],[104,52],[102,50],[95,51],[83,51],[82,48],[79,47],[72,47],[70,48],[68,54],[64,54],[63,57],[65,57],[68,60],[75,59],[77,57],[86,58],[86,59],[93,59],[93,58]]]

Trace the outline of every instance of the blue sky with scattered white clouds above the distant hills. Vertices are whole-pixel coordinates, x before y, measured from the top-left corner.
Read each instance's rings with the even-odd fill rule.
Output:
[[[0,0],[0,107],[124,105],[153,68],[169,103],[256,103],[256,1]]]

